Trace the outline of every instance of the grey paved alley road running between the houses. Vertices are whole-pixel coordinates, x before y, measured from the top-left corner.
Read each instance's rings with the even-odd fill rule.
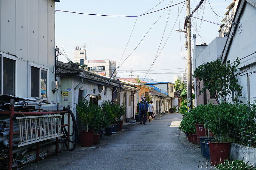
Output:
[[[99,170],[164,169],[198,170],[199,145],[189,143],[178,130],[180,114],[156,115],[146,125],[125,124],[117,135],[103,136],[96,148],[77,147],[24,167],[32,169]]]

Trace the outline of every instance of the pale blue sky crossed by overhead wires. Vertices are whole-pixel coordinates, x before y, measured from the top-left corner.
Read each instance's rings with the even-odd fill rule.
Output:
[[[58,60],[72,61],[75,47],[86,46],[88,60],[115,61],[120,78],[139,75],[157,82],[175,83],[173,75],[181,75],[187,67],[185,33],[175,31],[184,29],[187,15],[183,1],[61,0],[55,4],[55,10],[60,10],[55,12],[55,42],[63,53]],[[191,1],[191,12],[199,2]],[[204,0],[193,17],[222,24],[223,14],[231,2],[233,0]],[[163,8],[166,9],[161,10]],[[145,15],[136,17],[141,14]],[[196,33],[196,45],[209,44],[219,37],[220,25],[196,18],[191,19],[191,35]]]

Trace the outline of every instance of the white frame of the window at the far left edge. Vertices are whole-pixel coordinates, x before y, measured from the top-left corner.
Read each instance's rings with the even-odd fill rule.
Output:
[[[1,94],[3,94],[3,57],[5,58],[8,58],[8,59],[11,59],[11,60],[14,60],[15,61],[15,83],[14,83],[14,87],[15,87],[15,91],[14,91],[14,95],[16,96],[17,94],[17,58],[12,56],[12,55],[9,55],[9,54],[6,54],[6,53],[3,53],[3,52],[0,52],[0,66],[1,66]]]

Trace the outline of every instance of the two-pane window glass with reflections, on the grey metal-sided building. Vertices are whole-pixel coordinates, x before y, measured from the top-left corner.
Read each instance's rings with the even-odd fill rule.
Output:
[[[30,67],[30,97],[47,97],[47,71]]]

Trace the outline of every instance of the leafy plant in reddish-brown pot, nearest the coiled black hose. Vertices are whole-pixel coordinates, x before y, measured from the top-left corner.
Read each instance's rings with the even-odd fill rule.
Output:
[[[81,146],[89,147],[92,146],[93,140],[93,130],[90,130],[93,122],[93,108],[90,105],[89,100],[83,98],[79,100],[76,105],[76,111],[78,113],[79,119],[84,126],[84,130],[80,130],[81,135]]]

